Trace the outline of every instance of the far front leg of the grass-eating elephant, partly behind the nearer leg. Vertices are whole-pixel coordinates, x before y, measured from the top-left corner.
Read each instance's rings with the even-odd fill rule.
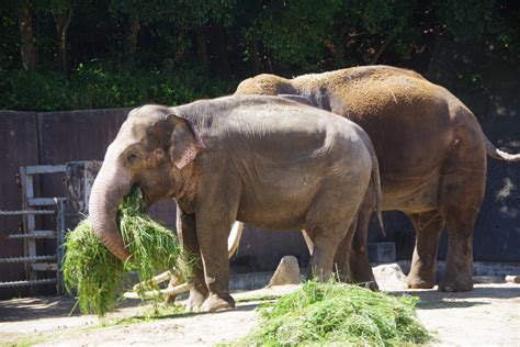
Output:
[[[201,261],[201,251],[199,239],[196,236],[196,221],[194,214],[188,214],[181,209],[177,208],[177,232],[181,245],[191,255],[195,257],[193,264],[193,273],[190,282],[193,288],[190,290],[190,296],[186,302],[188,311],[200,311],[204,300],[208,295],[208,290],[204,280],[204,269]]]

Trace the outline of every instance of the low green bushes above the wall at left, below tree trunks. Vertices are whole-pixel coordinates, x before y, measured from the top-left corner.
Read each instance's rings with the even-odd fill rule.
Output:
[[[136,107],[144,103],[181,104],[230,92],[228,82],[208,78],[197,69],[108,69],[103,64],[80,64],[66,77],[55,71],[0,71],[8,110],[56,111]]]

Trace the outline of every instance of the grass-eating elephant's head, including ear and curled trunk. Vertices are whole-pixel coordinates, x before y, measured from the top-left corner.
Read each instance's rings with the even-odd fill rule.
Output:
[[[134,184],[146,205],[178,197],[185,168],[204,149],[194,124],[173,108],[146,105],[129,112],[109,146],[89,201],[95,235],[117,258],[129,256],[117,230],[117,208]]]

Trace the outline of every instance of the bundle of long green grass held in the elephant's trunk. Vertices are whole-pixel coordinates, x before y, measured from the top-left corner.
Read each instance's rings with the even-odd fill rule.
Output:
[[[64,279],[69,292],[76,290],[82,313],[100,316],[109,312],[124,287],[125,273],[137,271],[139,281],[174,268],[179,279],[190,276],[191,260],[176,235],[143,212],[143,194],[135,187],[118,208],[117,222],[131,253],[124,262],[113,256],[82,221],[65,242]],[[148,283],[142,290],[158,289]]]

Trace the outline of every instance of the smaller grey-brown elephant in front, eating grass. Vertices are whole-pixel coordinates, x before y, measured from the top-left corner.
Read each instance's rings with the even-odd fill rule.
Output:
[[[235,220],[264,230],[305,228],[312,269],[326,279],[368,195],[381,200],[375,152],[364,131],[336,114],[279,97],[226,97],[133,110],[92,187],[94,232],[128,256],[115,213],[138,184],[147,204],[173,198],[181,243],[200,255],[188,307],[234,306],[227,236]]]

